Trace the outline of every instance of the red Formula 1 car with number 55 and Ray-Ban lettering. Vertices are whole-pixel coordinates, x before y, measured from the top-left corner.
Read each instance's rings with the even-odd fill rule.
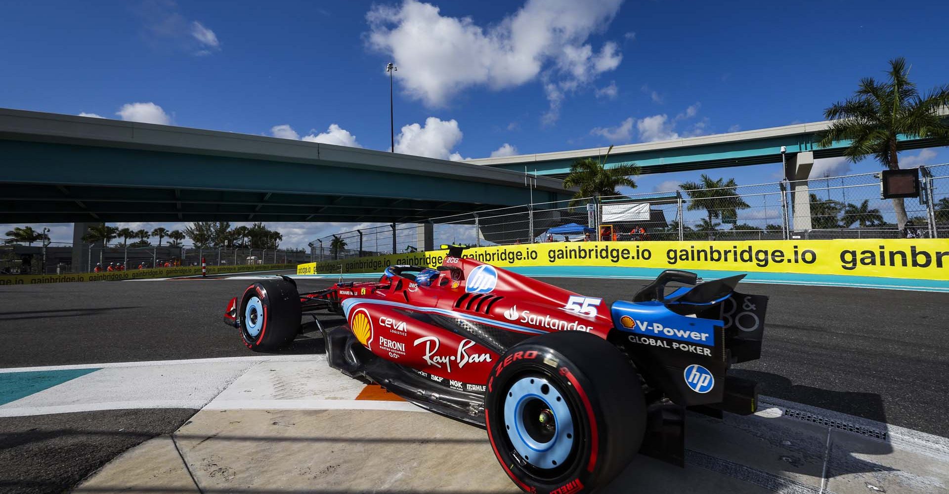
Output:
[[[697,284],[667,270],[606,306],[452,247],[437,269],[390,266],[378,282],[304,294],[289,278],[251,284],[225,320],[269,351],[304,312],[343,314],[346,325],[320,326],[331,367],[486,428],[525,491],[576,493],[637,452],[683,465],[686,408],[755,411],[754,381],[726,375],[761,352],[767,298],[735,292],[742,278]],[[667,293],[670,282],[688,286]]]

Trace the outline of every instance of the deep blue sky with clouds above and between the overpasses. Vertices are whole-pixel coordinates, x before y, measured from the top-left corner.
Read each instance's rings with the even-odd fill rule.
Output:
[[[36,1],[2,11],[3,107],[388,149],[384,66],[395,61],[397,151],[445,158],[817,121],[897,56],[920,88],[949,82],[940,1]],[[920,153],[903,156],[949,161],[944,149]],[[753,184],[777,171],[712,174]],[[695,175],[643,176],[640,190]],[[288,245],[343,227],[287,226]]]

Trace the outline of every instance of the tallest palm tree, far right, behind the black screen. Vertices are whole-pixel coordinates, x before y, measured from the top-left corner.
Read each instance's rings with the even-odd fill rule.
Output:
[[[828,147],[836,141],[849,140],[844,156],[850,161],[873,156],[889,170],[899,170],[898,136],[928,137],[938,144],[949,144],[949,124],[940,115],[942,107],[949,104],[949,85],[920,95],[916,84],[909,81],[906,61],[901,57],[889,64],[886,81],[864,78],[853,97],[824,110],[824,117],[834,121],[818,146]],[[902,197],[891,200],[897,226],[902,231],[906,208]]]

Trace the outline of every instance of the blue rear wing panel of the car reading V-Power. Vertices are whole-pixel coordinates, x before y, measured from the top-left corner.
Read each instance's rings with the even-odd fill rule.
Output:
[[[650,338],[675,339],[716,346],[716,326],[721,320],[680,316],[662,302],[614,302],[610,308],[613,326],[627,333]]]

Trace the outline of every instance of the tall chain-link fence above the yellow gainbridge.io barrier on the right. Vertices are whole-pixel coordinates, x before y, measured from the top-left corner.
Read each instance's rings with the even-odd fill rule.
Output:
[[[880,184],[880,174],[850,174],[706,189],[684,186],[481,210],[419,224],[382,224],[328,235],[311,246],[315,260],[330,260],[441,244],[949,236],[949,165],[921,167],[919,198],[883,199]],[[904,230],[898,228],[901,207]]]

